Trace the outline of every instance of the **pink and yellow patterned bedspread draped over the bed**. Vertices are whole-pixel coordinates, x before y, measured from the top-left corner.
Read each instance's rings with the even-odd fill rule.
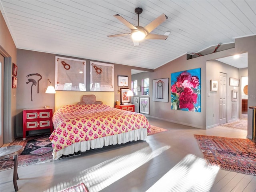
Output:
[[[143,114],[112,108],[104,104],[66,105],[54,112],[54,131],[50,135],[57,152],[74,143],[97,139],[130,130],[148,128]]]

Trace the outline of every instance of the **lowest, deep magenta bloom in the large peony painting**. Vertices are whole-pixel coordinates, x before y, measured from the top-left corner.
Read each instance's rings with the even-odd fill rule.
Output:
[[[184,88],[184,91],[180,94],[180,108],[188,108],[192,110],[194,103],[196,103],[197,94],[193,93],[192,89]]]

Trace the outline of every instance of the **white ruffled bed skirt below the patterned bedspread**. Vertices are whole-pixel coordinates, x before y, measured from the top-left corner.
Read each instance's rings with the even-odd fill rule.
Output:
[[[102,148],[104,146],[109,145],[116,145],[127,143],[129,141],[137,141],[137,140],[144,140],[147,138],[148,129],[147,128],[140,128],[136,130],[131,130],[126,133],[111,135],[107,137],[101,137],[98,139],[90,140],[90,141],[83,141],[79,143],[74,143],[71,146],[68,146],[58,152],[52,152],[53,159],[58,159],[62,155],[69,155],[74,154],[75,152],[81,151],[85,152],[90,149]]]

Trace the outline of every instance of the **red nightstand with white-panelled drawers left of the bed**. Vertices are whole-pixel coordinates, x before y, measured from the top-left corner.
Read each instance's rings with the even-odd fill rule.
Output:
[[[31,108],[23,110],[23,140],[26,140],[26,131],[48,129],[53,132],[52,108]]]

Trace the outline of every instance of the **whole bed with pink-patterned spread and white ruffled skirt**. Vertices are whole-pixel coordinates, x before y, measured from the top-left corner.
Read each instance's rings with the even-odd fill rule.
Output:
[[[105,104],[66,105],[54,112],[53,159],[108,145],[144,140],[150,124],[143,114]]]

